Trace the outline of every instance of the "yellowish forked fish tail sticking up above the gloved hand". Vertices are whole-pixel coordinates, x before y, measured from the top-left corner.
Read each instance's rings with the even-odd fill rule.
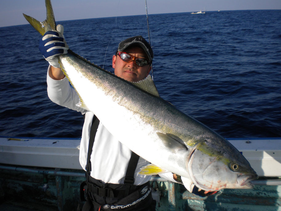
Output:
[[[39,22],[35,18],[23,14],[26,20],[30,23],[30,25],[33,26],[34,29],[36,29],[41,35],[44,35],[45,32],[49,30],[57,30],[51,1],[45,0],[45,4],[47,10],[47,18],[43,22]]]

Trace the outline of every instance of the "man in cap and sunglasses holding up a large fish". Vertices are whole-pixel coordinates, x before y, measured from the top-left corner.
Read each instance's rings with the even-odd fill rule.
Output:
[[[58,63],[57,56],[66,54],[68,46],[63,37],[63,27],[58,25],[57,30],[44,34],[39,50],[50,63],[47,73],[49,98],[54,103],[81,112],[85,117],[79,155],[87,179],[82,185],[88,195],[83,210],[155,210],[149,183],[151,176],[138,174],[140,168],[149,162],[112,136],[92,112],[76,106],[79,97]],[[151,46],[142,36],[128,38],[119,43],[112,57],[114,74],[138,82],[148,76],[152,59]],[[161,176],[178,182],[171,173]],[[185,185],[188,190],[194,187],[188,179],[185,184],[188,184]]]

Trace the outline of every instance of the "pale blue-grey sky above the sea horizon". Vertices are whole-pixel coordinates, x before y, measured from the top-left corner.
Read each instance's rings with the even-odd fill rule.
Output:
[[[146,14],[145,0],[53,0],[57,21]],[[147,0],[148,14],[199,10],[280,10],[281,0]],[[27,24],[22,13],[43,21],[44,0],[1,0],[0,27]]]

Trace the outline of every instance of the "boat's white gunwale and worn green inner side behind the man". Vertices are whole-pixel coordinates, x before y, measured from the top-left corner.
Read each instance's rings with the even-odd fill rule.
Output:
[[[201,198],[183,185],[153,177],[157,210],[281,211],[281,138],[228,140],[258,173],[254,189],[224,189]],[[76,210],[85,180],[79,143],[0,137],[0,210]]]

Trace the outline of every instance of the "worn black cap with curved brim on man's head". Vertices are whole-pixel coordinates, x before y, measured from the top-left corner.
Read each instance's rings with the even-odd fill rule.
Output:
[[[123,40],[121,43],[119,43],[117,51],[123,51],[131,45],[140,46],[144,50],[144,52],[147,54],[149,60],[152,62],[152,59],[153,59],[152,48],[151,48],[150,44],[141,35],[130,37],[128,39]]]

